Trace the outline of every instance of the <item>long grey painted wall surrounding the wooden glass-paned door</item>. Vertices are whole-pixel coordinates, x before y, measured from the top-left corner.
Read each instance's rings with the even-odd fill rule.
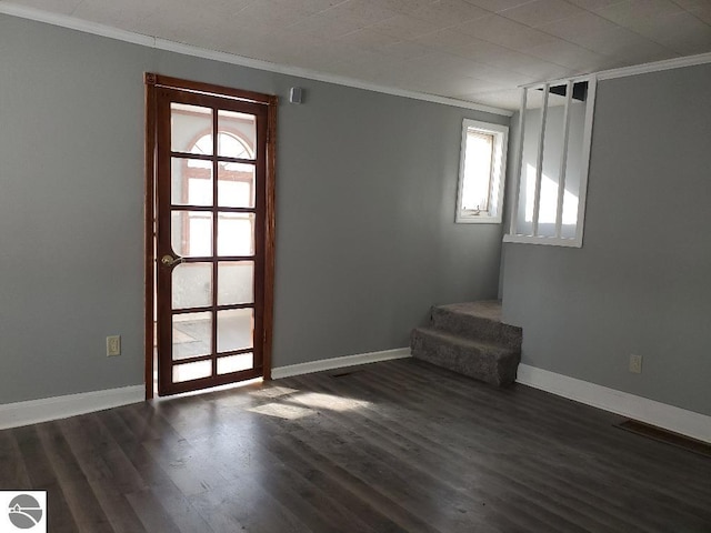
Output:
[[[462,118],[504,117],[8,16],[0,49],[0,403],[143,382],[144,71],[282,98],[274,366],[405,346],[431,304],[497,294],[501,225],[453,220]]]

